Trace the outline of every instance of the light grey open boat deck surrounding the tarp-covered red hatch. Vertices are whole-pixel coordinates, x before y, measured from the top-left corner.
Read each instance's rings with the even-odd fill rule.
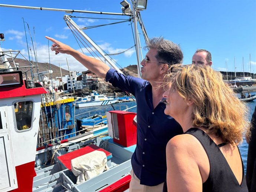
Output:
[[[85,146],[94,144],[112,154],[108,159],[108,171],[76,185],[76,176],[59,160],[58,157],[69,152],[74,152]],[[88,192],[101,191],[119,179],[127,176],[131,171],[131,156],[135,146],[123,147],[113,142],[109,136],[95,138],[85,142],[74,143],[73,145],[63,145],[58,149],[52,149],[49,153],[53,156],[55,165],[35,168],[37,176],[33,181],[33,192]]]

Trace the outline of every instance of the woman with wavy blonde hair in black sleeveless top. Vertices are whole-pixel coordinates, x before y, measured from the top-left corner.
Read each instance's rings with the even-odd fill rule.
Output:
[[[184,134],[167,144],[164,191],[247,191],[237,148],[249,126],[246,106],[210,66],[175,65],[170,71],[164,112]]]

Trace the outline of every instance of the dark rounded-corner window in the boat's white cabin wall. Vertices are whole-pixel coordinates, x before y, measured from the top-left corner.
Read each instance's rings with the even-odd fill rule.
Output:
[[[14,112],[18,130],[26,130],[31,128],[32,111],[32,101],[22,101],[14,103]]]

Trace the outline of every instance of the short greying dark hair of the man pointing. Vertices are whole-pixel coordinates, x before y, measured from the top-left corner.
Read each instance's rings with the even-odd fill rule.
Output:
[[[155,56],[159,62],[166,62],[168,65],[179,64],[183,61],[183,53],[180,46],[164,39],[163,37],[153,37],[145,48],[157,50]]]

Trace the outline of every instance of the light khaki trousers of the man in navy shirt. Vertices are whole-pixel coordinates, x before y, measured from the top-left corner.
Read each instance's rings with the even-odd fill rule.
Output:
[[[162,192],[164,183],[160,183],[156,186],[141,185],[140,179],[131,171],[131,182],[129,186],[129,192]]]

